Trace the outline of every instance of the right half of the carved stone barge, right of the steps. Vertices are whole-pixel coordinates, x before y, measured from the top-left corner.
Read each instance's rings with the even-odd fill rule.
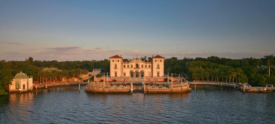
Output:
[[[183,93],[190,92],[188,81],[187,82],[167,82],[166,85],[143,85],[144,93]]]

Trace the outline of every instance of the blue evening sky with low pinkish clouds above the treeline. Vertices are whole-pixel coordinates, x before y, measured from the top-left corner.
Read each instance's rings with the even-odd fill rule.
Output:
[[[0,60],[275,52],[274,0],[0,0]]]

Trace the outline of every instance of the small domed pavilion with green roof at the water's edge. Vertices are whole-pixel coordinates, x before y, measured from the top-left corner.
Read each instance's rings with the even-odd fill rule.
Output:
[[[11,84],[6,85],[5,88],[9,92],[27,92],[32,90],[32,76],[28,77],[27,74],[22,71],[16,74],[11,81]]]

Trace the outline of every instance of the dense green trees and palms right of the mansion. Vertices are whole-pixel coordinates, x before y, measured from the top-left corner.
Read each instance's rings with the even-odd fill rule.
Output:
[[[165,59],[164,72],[189,74],[193,80],[247,82],[252,86],[275,84],[275,57],[229,59],[208,58]],[[269,76],[270,66],[270,76]]]

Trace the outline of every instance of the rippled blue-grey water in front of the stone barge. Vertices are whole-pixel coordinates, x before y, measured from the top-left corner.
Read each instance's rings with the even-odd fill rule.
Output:
[[[275,93],[191,86],[190,93],[100,94],[81,86],[0,96],[0,123],[274,123]]]

